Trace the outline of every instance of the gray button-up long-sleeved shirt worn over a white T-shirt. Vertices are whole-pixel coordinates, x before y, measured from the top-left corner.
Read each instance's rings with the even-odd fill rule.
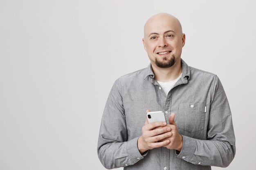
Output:
[[[188,66],[168,95],[159,88],[151,65],[124,75],[113,85],[101,120],[98,156],[108,169],[210,170],[226,167],[235,156],[235,136],[225,91],[219,78]],[[146,109],[170,113],[183,137],[180,152],[165,147],[140,154],[137,140]]]

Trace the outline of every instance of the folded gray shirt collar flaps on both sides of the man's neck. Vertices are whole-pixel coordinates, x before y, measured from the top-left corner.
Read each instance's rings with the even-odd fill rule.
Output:
[[[184,62],[184,60],[181,59],[181,66],[182,66],[182,79],[186,82],[186,79],[189,80],[190,77],[190,68],[189,66],[186,64],[186,62]],[[154,78],[155,75],[153,73],[151,64],[148,65],[148,67],[146,68],[146,72],[144,74],[144,79],[146,79],[146,77],[152,77]]]

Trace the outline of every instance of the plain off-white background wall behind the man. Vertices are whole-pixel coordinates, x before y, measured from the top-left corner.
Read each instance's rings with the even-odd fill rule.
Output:
[[[148,66],[143,26],[159,12],[180,20],[185,62],[225,88],[237,148],[226,169],[254,169],[254,3],[0,0],[0,170],[104,170],[97,140],[108,93]]]

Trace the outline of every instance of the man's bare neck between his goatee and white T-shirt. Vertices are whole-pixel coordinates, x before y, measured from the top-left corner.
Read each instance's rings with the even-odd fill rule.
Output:
[[[155,75],[155,80],[159,82],[170,82],[182,73],[181,60],[176,61],[175,64],[169,68],[160,68],[158,66],[151,63],[153,73]]]

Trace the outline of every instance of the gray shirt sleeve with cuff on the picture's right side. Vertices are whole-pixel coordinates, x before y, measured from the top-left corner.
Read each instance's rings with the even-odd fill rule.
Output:
[[[236,153],[229,103],[216,76],[211,93],[207,140],[182,135],[183,146],[177,157],[193,164],[227,167]]]

